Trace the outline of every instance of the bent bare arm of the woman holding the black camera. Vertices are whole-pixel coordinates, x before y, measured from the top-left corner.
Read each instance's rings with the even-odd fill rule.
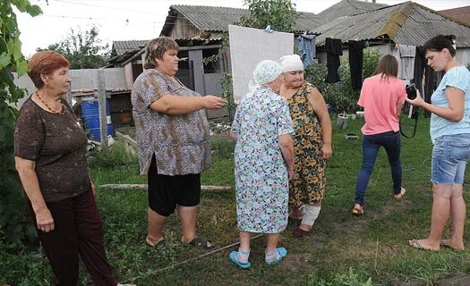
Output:
[[[419,90],[416,90],[416,98],[410,100],[406,98],[406,101],[410,104],[418,107],[423,107],[432,114],[436,114],[442,118],[445,118],[451,122],[459,122],[464,117],[465,113],[465,93],[459,88],[446,88],[446,97],[449,102],[448,107],[440,107],[437,105],[428,104],[421,97]]]

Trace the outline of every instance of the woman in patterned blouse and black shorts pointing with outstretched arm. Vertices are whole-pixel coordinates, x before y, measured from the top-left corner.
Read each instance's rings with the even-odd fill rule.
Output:
[[[175,78],[179,46],[167,37],[146,48],[145,68],[132,88],[132,106],[141,174],[149,182],[151,247],[165,242],[163,226],[175,209],[183,229],[182,242],[202,248],[212,244],[196,234],[201,172],[209,168],[209,123],[204,109],[219,109],[226,101],[201,97]]]

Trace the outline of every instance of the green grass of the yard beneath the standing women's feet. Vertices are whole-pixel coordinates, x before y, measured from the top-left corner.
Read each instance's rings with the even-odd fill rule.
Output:
[[[404,120],[404,129],[409,134],[413,122]],[[432,144],[429,119],[420,119],[414,139],[402,139],[406,198],[398,202],[392,197],[389,164],[382,149],[367,189],[365,215],[353,217],[350,214],[362,146],[361,139],[346,141],[344,134],[360,136],[362,123],[362,120],[350,121],[346,130],[334,130],[334,156],[328,164],[328,190],[320,218],[313,226],[312,235],[302,240],[292,237],[290,231],[295,224],[289,223],[280,241],[288,249],[288,255],[274,267],[264,265],[264,240],[257,239],[252,241],[250,271],[239,270],[228,260],[228,253],[235,247],[159,271],[205,252],[181,244],[176,215],[170,216],[165,229],[169,243],[158,249],[147,247],[144,242],[146,192],[98,187],[107,256],[116,276],[120,281],[138,285],[353,286],[406,281],[414,281],[413,285],[436,285],[449,273],[468,271],[470,250],[443,249],[434,253],[407,246],[407,240],[425,237],[430,226]],[[212,149],[213,165],[202,174],[202,184],[234,187],[234,144],[218,137],[213,139]],[[139,175],[135,157],[124,156],[119,146],[98,155],[90,163],[97,186],[146,182],[146,178]],[[465,197],[468,200],[467,194]],[[237,241],[235,191],[203,191],[198,227],[202,235],[216,243],[216,248]],[[466,244],[470,247],[468,231],[466,225]],[[449,230],[445,234],[449,234]],[[50,277],[52,272],[40,249],[0,246],[0,285],[2,282],[47,285]],[[81,285],[88,283],[90,278],[82,270]]]

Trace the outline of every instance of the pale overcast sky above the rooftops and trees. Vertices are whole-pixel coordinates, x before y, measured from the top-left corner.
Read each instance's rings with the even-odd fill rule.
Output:
[[[320,13],[339,0],[293,0],[297,12]],[[372,2],[372,0],[369,0]],[[381,4],[399,4],[405,0],[377,0]],[[36,48],[61,41],[71,29],[98,27],[101,44],[111,47],[113,40],[157,38],[171,4],[226,6],[247,8],[244,0],[30,0],[43,14],[30,17],[17,12],[21,31],[21,50],[30,57]],[[468,0],[416,0],[440,11],[470,4]]]

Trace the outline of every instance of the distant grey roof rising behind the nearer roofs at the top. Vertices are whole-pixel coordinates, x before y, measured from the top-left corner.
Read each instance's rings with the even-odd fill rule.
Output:
[[[323,22],[329,22],[343,16],[351,16],[359,13],[373,11],[386,7],[387,4],[370,3],[356,0],[343,0],[320,12],[317,16]]]

